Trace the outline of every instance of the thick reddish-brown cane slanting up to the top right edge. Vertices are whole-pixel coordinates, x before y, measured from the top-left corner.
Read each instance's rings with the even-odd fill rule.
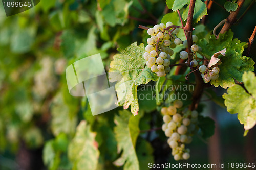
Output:
[[[230,15],[227,17],[227,22],[224,24],[224,26],[222,27],[220,34],[225,33],[227,30],[230,29],[230,27],[232,26],[232,24],[236,21],[236,17],[242,7],[242,5],[244,4],[245,0],[238,0],[238,9],[236,11],[232,11],[230,13]],[[219,38],[219,35],[217,36],[217,39]]]

